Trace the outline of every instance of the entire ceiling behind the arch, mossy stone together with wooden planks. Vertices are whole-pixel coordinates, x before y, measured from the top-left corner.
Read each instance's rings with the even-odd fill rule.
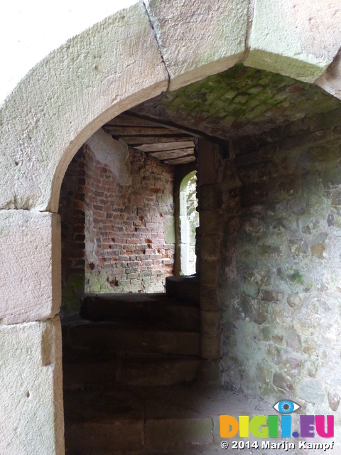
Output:
[[[320,87],[244,67],[163,92],[104,125],[115,139],[167,164],[194,161],[193,137],[226,141],[287,127],[316,114],[341,112]]]

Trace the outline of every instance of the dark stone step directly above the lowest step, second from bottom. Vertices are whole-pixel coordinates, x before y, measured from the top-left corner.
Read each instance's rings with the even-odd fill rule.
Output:
[[[188,355],[65,349],[63,384],[65,389],[77,389],[110,382],[144,387],[193,382],[197,378],[200,362],[200,358]]]

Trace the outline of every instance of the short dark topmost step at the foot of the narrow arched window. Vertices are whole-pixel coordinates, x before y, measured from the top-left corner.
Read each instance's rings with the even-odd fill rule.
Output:
[[[166,294],[172,299],[200,304],[200,281],[197,275],[166,277]]]

